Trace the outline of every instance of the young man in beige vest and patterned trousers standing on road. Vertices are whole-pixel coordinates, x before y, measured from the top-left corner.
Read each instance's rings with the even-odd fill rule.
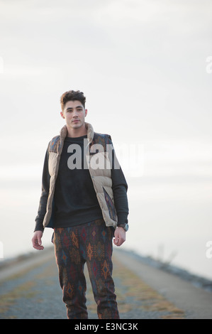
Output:
[[[49,143],[43,167],[42,193],[35,218],[33,247],[43,249],[45,227],[53,243],[67,318],[87,318],[87,262],[98,317],[119,318],[112,279],[112,239],[125,242],[128,230],[128,185],[118,165],[111,136],[97,134],[85,122],[86,98],[79,91],[61,99],[66,125]]]

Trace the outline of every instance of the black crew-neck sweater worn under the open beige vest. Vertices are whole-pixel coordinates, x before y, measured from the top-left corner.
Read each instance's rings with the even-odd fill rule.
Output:
[[[59,171],[57,174],[57,181],[55,183],[55,212],[54,212],[54,227],[71,227],[74,225],[84,224],[93,220],[102,218],[101,208],[96,198],[94,185],[91,181],[89,169],[84,168],[84,139],[87,136],[77,138],[66,137],[64,146],[60,157]],[[77,144],[81,150],[67,152],[71,144]],[[72,157],[72,163],[77,163],[74,157],[81,159],[82,168],[70,169],[68,166],[68,159]],[[81,153],[82,152],[82,153]],[[74,154],[74,156],[73,156]],[[74,167],[72,164],[72,168]],[[49,184],[50,174],[48,173],[48,152],[45,156],[45,163],[43,169],[43,183]],[[113,197],[118,216],[118,224],[128,222],[128,199],[126,191],[128,185],[125,181],[123,171],[121,168],[111,169]],[[35,231],[43,231],[43,222],[39,217],[35,218]]]

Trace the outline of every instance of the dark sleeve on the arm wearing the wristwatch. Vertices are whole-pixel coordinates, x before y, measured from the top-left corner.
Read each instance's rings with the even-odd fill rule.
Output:
[[[112,189],[113,198],[116,208],[116,213],[118,216],[118,225],[128,223],[128,184],[125,180],[125,176],[121,169],[116,153],[113,148],[113,143],[111,141],[111,136],[109,136],[109,143],[112,146],[112,168],[111,168],[111,178],[112,178]]]

